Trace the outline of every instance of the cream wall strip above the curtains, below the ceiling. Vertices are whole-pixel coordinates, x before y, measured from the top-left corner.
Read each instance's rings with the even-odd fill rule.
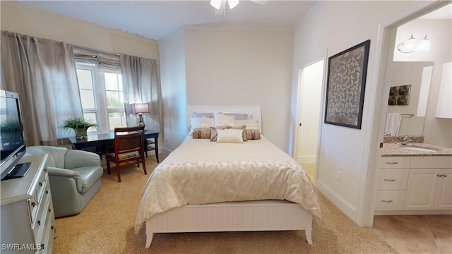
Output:
[[[61,16],[16,1],[1,1],[1,30],[90,49],[158,59],[155,40]]]

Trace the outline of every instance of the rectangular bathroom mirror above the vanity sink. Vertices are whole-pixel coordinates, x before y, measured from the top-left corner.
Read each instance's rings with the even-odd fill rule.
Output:
[[[388,64],[385,85],[388,114],[385,135],[389,135],[388,133],[391,133],[391,136],[422,135],[433,68],[432,61],[393,61]],[[410,85],[409,95],[403,95],[405,103],[390,102],[394,99],[394,87],[408,85]]]

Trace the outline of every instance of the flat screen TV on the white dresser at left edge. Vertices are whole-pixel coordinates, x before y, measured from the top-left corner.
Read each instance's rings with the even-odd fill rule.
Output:
[[[18,93],[0,90],[1,181],[27,174],[30,164],[18,163],[25,152]]]

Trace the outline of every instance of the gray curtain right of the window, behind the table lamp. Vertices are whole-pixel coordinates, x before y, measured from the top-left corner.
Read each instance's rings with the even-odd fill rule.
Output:
[[[131,114],[132,103],[149,103],[150,113],[143,113],[146,130],[162,135],[162,90],[157,61],[121,54],[121,73],[127,126],[136,126],[138,116]]]

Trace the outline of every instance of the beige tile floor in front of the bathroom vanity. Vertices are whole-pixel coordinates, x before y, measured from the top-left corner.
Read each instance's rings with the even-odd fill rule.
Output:
[[[452,254],[452,215],[376,215],[373,228],[399,253]]]

